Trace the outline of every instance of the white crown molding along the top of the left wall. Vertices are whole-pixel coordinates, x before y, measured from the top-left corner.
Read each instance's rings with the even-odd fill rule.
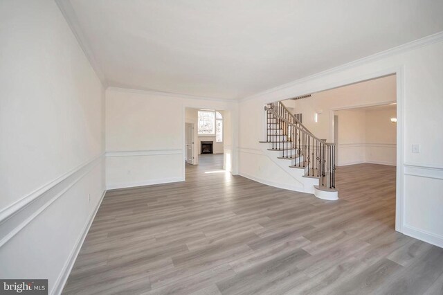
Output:
[[[55,0],[55,3],[57,3],[57,6],[68,23],[69,28],[71,28],[71,31],[74,34],[75,39],[77,39],[80,48],[82,48],[84,55],[87,57],[87,60],[89,60],[89,64],[91,64],[92,69],[96,72],[98,79],[100,82],[102,82],[103,88],[106,89],[108,87],[108,82],[106,80],[105,73],[103,73],[103,71],[100,69],[98,62],[92,53],[91,47],[89,46],[86,37],[84,37],[84,34],[82,33],[82,28],[80,28],[80,24],[77,16],[75,15],[73,7],[71,6],[71,2]]]

